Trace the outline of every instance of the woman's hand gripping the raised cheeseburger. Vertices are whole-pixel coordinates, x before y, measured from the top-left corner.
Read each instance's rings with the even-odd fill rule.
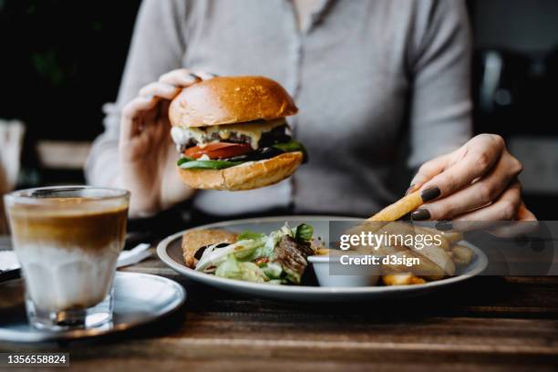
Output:
[[[193,193],[176,171],[178,155],[171,140],[168,111],[181,88],[212,77],[185,68],[172,70],[141,88],[139,96],[122,110],[118,183],[130,191],[131,215],[159,212]]]

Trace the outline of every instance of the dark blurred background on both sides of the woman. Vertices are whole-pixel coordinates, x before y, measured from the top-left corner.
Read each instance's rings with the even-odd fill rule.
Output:
[[[8,170],[15,187],[84,182],[82,166],[103,130],[101,107],[117,96],[139,5],[0,0],[0,122],[14,129],[0,146],[21,138],[25,149],[21,168]],[[508,140],[525,165],[527,205],[555,220],[558,1],[469,0],[468,7],[475,131]]]

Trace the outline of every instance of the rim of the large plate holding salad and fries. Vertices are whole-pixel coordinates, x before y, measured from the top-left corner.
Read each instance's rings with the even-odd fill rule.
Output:
[[[318,294],[385,294],[385,293],[414,292],[419,290],[429,290],[432,288],[437,288],[439,286],[446,286],[449,284],[465,281],[467,279],[470,279],[471,277],[481,274],[488,266],[488,257],[486,256],[485,253],[483,253],[474,244],[471,244],[467,241],[460,241],[460,243],[465,243],[475,253],[477,253],[476,259],[480,260],[480,262],[477,264],[476,268],[472,269],[467,274],[460,274],[457,276],[452,276],[438,281],[432,281],[425,284],[414,284],[414,285],[361,286],[361,287],[270,285],[270,284],[246,282],[242,280],[235,280],[229,278],[221,278],[215,275],[200,273],[195,270],[192,270],[190,267],[187,267],[184,264],[177,263],[171,258],[169,253],[167,253],[167,248],[171,245],[173,241],[181,238],[181,236],[184,233],[192,230],[210,229],[215,227],[231,226],[231,225],[253,223],[253,222],[258,222],[258,223],[280,222],[281,220],[288,221],[289,219],[291,220],[292,219],[315,219],[318,221],[362,220],[355,217],[332,216],[332,215],[291,215],[291,216],[272,216],[272,217],[263,217],[263,218],[256,217],[256,218],[246,218],[240,220],[207,223],[190,229],[185,229],[178,233],[173,233],[170,236],[166,237],[165,239],[161,240],[160,243],[157,244],[157,256],[159,257],[160,261],[165,263],[167,266],[171,267],[171,269],[173,269],[177,273],[186,276],[192,280],[195,280],[198,283],[205,284],[205,285],[223,284],[227,288],[227,290],[230,290],[231,286],[242,287],[243,289],[250,289],[257,292],[263,291],[263,294],[316,294],[318,295]],[[184,272],[187,272],[188,274],[184,274]],[[222,286],[220,285],[219,288],[222,288]]]

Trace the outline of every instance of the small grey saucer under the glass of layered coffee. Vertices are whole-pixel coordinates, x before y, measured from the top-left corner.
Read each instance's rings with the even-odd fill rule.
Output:
[[[0,284],[0,341],[47,342],[103,336],[144,325],[170,314],[186,300],[186,291],[171,279],[150,274],[120,273],[114,281],[112,324],[67,332],[39,331],[27,323],[23,280]]]

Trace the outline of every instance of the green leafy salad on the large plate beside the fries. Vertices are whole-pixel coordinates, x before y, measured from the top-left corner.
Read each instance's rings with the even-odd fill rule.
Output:
[[[300,284],[306,258],[315,253],[314,227],[285,224],[270,234],[244,232],[232,244],[209,245],[195,270],[224,278],[267,284]]]

